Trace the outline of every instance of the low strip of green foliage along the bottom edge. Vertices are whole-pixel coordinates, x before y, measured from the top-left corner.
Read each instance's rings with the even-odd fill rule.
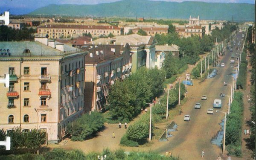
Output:
[[[119,149],[111,151],[108,148],[100,152],[90,152],[84,154],[80,150],[66,151],[64,149],[53,149],[47,153],[37,154],[11,154],[0,155],[1,160],[97,160],[97,156],[106,155],[105,160],[180,160],[179,157],[165,157],[161,154],[152,152],[129,152],[125,154],[124,150]]]

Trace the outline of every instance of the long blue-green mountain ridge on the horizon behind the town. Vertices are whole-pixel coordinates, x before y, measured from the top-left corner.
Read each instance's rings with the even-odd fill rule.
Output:
[[[122,0],[96,5],[48,5],[29,15],[68,15],[96,17],[145,17],[188,19],[200,16],[205,20],[254,21],[254,4],[249,3],[205,3],[164,2],[148,0]]]

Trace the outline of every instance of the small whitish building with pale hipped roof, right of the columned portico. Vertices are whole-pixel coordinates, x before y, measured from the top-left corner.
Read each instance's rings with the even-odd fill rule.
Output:
[[[163,66],[163,61],[167,54],[171,54],[175,57],[179,57],[179,47],[175,44],[172,45],[156,45],[156,55],[155,55],[155,66],[161,69]]]

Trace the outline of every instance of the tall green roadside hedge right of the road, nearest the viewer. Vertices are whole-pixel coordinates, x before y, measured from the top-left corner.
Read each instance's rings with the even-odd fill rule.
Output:
[[[241,131],[243,121],[243,93],[235,92],[226,121],[226,145],[230,155],[241,156]]]

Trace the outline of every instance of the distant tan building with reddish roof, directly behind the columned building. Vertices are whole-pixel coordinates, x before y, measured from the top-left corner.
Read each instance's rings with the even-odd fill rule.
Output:
[[[147,35],[155,36],[156,34],[168,34],[168,28],[160,28],[160,27],[140,27],[140,28],[134,28],[132,29],[132,32],[137,34],[138,31],[142,29],[147,33]]]

